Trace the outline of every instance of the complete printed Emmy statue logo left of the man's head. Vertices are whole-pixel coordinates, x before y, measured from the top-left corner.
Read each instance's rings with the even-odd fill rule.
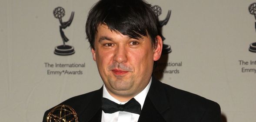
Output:
[[[53,15],[55,18],[59,19],[60,21],[60,36],[63,41],[63,45],[56,46],[54,50],[54,54],[60,56],[68,56],[75,53],[75,49],[73,46],[66,45],[65,43],[69,41],[69,39],[65,36],[63,29],[70,26],[72,20],[74,18],[74,12],[72,11],[71,16],[68,21],[63,22],[62,17],[65,15],[65,10],[62,7],[57,7],[53,10]]]

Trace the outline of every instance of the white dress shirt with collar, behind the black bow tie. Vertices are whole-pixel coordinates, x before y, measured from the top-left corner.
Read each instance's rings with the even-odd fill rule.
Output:
[[[151,80],[149,84],[146,86],[145,89],[143,89],[138,95],[134,97],[136,101],[140,103],[141,109],[144,105],[144,101],[146,99],[147,92],[150,89]],[[110,99],[113,102],[116,102],[117,104],[125,104],[126,102],[120,102],[117,99],[115,99],[113,96],[110,95],[110,93],[106,90],[105,85],[103,84],[103,97]],[[101,115],[101,122],[138,122],[140,115],[130,112],[114,112],[114,113],[105,113],[102,111]]]

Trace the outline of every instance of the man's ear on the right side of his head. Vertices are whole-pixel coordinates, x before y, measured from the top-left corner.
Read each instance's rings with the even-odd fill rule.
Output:
[[[154,56],[153,59],[154,61],[157,61],[158,59],[160,59],[161,54],[162,54],[162,49],[163,49],[163,40],[161,38],[161,36],[156,36],[156,43],[154,46]]]

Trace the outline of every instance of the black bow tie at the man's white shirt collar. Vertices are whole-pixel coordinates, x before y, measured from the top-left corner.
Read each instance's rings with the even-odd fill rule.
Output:
[[[136,99],[134,98],[130,99],[128,102],[121,105],[103,97],[101,108],[105,113],[125,111],[125,112],[131,112],[131,113],[136,113],[140,115],[140,112],[141,112],[140,103],[136,101]]]

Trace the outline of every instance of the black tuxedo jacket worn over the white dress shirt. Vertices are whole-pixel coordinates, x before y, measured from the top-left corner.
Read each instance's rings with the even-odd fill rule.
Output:
[[[67,99],[79,122],[101,122],[103,88]],[[47,122],[47,110],[43,122]],[[153,78],[138,122],[221,122],[216,102],[176,89]]]

